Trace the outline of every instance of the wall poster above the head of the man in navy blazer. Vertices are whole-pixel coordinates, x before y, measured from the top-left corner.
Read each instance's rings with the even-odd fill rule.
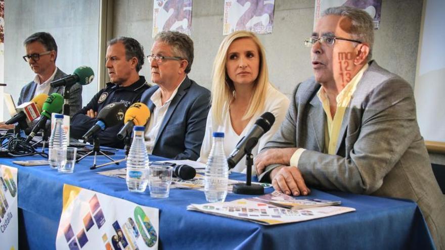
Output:
[[[190,35],[192,28],[192,0],[154,0],[153,33],[174,30]]]

